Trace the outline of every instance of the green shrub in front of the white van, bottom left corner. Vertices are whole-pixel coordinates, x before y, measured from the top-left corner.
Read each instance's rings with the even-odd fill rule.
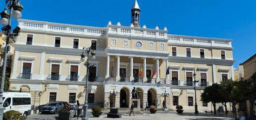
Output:
[[[9,110],[4,113],[3,120],[25,120],[24,116],[20,116],[20,112]]]

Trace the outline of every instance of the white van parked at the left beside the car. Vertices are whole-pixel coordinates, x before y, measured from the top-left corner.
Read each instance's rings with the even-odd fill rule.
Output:
[[[4,113],[9,110],[19,111],[25,119],[31,113],[30,93],[4,92],[3,101]]]

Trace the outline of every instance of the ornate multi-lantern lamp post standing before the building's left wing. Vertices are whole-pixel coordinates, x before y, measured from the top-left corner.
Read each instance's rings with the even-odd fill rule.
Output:
[[[87,63],[85,63],[84,65],[87,68],[87,76],[86,76],[86,88],[85,88],[85,101],[84,101],[84,106],[83,106],[83,117],[82,120],[88,120],[88,114],[87,114],[87,110],[88,110],[88,76],[89,76],[89,68],[93,67],[94,64],[89,64],[89,53],[91,53],[91,59],[95,59],[95,55],[96,53],[93,50],[93,46],[89,47],[89,48],[83,48],[83,52],[81,54],[81,61],[84,62],[84,58],[87,55]],[[85,55],[86,54],[86,55]]]

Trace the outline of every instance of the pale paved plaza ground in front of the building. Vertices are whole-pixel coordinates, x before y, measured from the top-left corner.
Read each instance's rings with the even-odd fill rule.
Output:
[[[99,118],[94,118],[91,113],[89,113],[89,120],[234,120],[233,114],[198,114],[194,113],[183,113],[182,115],[176,114],[176,112],[158,112],[157,114],[135,114],[135,116],[129,116],[128,112],[120,112],[124,114],[121,119],[111,119],[107,118],[107,115],[103,112]],[[73,114],[72,114],[73,115]],[[29,115],[27,120],[58,120],[58,114],[34,114]],[[72,118],[72,120],[77,120]],[[81,120],[79,118],[78,120]]]

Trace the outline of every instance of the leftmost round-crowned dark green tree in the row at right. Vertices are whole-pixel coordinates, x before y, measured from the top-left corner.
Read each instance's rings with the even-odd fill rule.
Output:
[[[212,102],[214,114],[216,114],[216,103],[222,99],[220,89],[221,86],[217,83],[214,83],[211,86],[206,87],[201,95],[201,101]]]

